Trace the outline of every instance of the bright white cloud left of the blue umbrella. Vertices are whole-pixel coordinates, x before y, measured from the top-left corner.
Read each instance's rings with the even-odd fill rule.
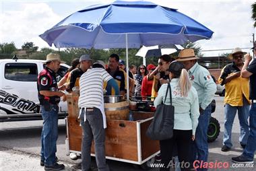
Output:
[[[14,42],[21,48],[24,42],[34,42],[36,46],[48,46],[38,35],[53,27],[61,20],[46,3],[23,3],[19,10],[0,14],[1,42]]]

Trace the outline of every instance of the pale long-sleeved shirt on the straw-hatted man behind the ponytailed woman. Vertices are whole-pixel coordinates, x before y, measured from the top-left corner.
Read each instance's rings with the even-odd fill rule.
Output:
[[[198,63],[189,69],[189,77],[193,82],[193,87],[197,90],[199,106],[205,110],[214,99],[217,90],[216,83],[210,72]]]

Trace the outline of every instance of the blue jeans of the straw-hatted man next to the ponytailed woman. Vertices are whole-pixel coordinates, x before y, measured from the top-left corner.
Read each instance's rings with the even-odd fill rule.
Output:
[[[208,142],[207,142],[207,129],[212,114],[211,104],[203,110],[203,114],[200,114],[198,118],[198,125],[195,131],[195,141],[192,145],[192,161],[199,160],[207,162],[208,158]],[[207,170],[203,168],[197,168],[197,170]]]

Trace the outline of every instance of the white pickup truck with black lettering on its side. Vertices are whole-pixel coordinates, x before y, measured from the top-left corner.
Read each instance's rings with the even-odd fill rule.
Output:
[[[37,76],[44,69],[44,61],[31,59],[0,60],[0,122],[42,119]],[[64,76],[69,65],[61,64],[57,81]],[[59,103],[59,118],[67,115],[67,102]]]

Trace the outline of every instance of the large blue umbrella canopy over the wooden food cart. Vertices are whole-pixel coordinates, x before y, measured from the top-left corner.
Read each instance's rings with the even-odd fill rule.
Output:
[[[77,11],[40,37],[57,48],[102,49],[184,44],[187,40],[209,39],[212,34],[212,30],[177,9],[147,1],[115,1]]]

